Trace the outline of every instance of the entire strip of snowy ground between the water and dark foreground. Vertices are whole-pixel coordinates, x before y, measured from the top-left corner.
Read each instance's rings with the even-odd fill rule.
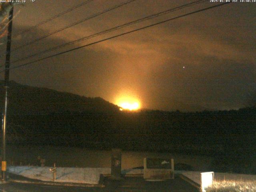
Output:
[[[52,181],[53,174],[50,167],[36,166],[10,166],[8,172],[21,175],[31,179],[42,181]],[[101,174],[111,174],[110,168],[71,168],[57,167],[56,182],[71,182],[83,184],[98,184]],[[201,184],[201,174],[199,171],[175,171],[175,174],[182,174],[190,180]],[[143,174],[143,169],[126,169],[122,174]],[[237,180],[252,181],[256,180],[256,175],[214,173],[214,180]]]

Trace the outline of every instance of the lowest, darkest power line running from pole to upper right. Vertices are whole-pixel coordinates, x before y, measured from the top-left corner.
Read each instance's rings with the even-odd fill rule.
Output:
[[[161,22],[157,22],[157,23],[154,23],[154,24],[151,24],[151,25],[148,25],[148,26],[144,26],[142,28],[138,28],[138,29],[135,29],[135,30],[131,30],[131,31],[128,31],[128,32],[125,32],[125,33],[122,33],[122,34],[118,34],[118,35],[115,35],[115,36],[112,36],[112,37],[109,37],[109,38],[105,38],[105,39],[102,39],[102,40],[99,40],[99,41],[96,41],[96,42],[93,42],[93,43],[90,43],[90,44],[86,44],[86,45],[83,45],[83,46],[79,46],[79,47],[76,47],[76,48],[73,48],[73,49],[70,49],[70,50],[66,50],[64,52],[60,52],[60,53],[57,53],[57,54],[54,54],[54,55],[51,55],[51,56],[47,56],[47,57],[44,57],[44,58],[41,58],[41,59],[38,59],[38,60],[35,60],[35,61],[32,61],[32,62],[27,62],[25,64],[21,64],[19,66],[15,66],[15,67],[12,67],[10,68],[11,69],[15,69],[15,68],[20,68],[20,67],[23,67],[23,66],[26,66],[26,65],[29,65],[29,64],[33,64],[35,62],[38,62],[38,61],[42,61],[42,60],[45,60],[45,59],[48,59],[48,58],[51,58],[51,57],[54,57],[54,56],[58,56],[58,55],[61,55],[61,54],[64,54],[64,53],[67,53],[67,52],[71,52],[71,51],[74,51],[74,50],[78,50],[80,48],[84,48],[84,47],[87,47],[87,46],[90,46],[90,45],[94,45],[94,44],[97,44],[97,43],[100,43],[100,42],[104,42],[106,40],[110,40],[110,39],[113,39],[113,38],[116,38],[116,37],[120,37],[120,36],[123,36],[123,35],[126,35],[126,34],[130,34],[132,32],[136,32],[136,31],[139,31],[139,30],[142,30],[142,29],[146,29],[146,28],[149,28],[149,27],[152,27],[152,26],[156,26],[158,24],[162,24],[162,23],[165,23],[165,22],[168,22],[168,21],[171,21],[171,20],[175,20],[175,19],[178,19],[178,18],[182,18],[184,16],[188,16],[188,15],[192,15],[192,14],[195,14],[195,13],[198,13],[198,12],[202,12],[202,11],[205,11],[205,10],[209,10],[209,9],[212,9],[212,8],[216,8],[216,7],[219,7],[219,6],[223,6],[225,4],[229,4],[230,2],[225,2],[223,4],[218,4],[218,5],[215,5],[215,6],[210,6],[210,7],[207,7],[207,8],[203,8],[203,9],[200,9],[200,10],[196,10],[196,11],[193,11],[193,12],[190,12],[190,13],[187,13],[187,14],[183,14],[183,15],[180,15],[180,16],[176,16],[174,18],[170,18],[168,20],[164,20],[164,21],[161,21]],[[4,70],[0,71],[0,72],[4,72]]]

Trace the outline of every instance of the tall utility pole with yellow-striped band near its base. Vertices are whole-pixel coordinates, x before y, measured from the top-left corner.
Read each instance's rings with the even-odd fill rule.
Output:
[[[6,181],[6,116],[7,116],[7,105],[8,105],[9,70],[10,70],[10,55],[11,55],[11,40],[12,40],[12,16],[13,16],[13,7],[9,12],[5,74],[4,74],[5,102],[4,102],[4,113],[3,113],[3,119],[2,119],[2,168],[1,168],[2,180],[4,181]]]

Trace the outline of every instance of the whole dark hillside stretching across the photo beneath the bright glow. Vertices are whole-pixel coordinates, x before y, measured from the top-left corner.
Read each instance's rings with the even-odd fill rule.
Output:
[[[214,158],[213,171],[256,174],[256,108],[129,112],[102,98],[11,82],[8,109],[7,144],[201,154]]]

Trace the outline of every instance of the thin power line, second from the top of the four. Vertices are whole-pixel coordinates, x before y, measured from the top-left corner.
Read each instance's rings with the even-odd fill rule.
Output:
[[[74,23],[72,23],[72,24],[70,24],[70,25],[68,25],[68,26],[65,26],[65,27],[63,27],[63,28],[60,28],[60,29],[55,30],[55,31],[53,31],[53,32],[50,32],[49,34],[47,34],[47,35],[45,35],[45,36],[39,37],[39,38],[37,38],[37,39],[35,39],[35,40],[31,41],[31,42],[28,42],[28,43],[26,43],[26,44],[23,44],[23,45],[21,45],[21,46],[18,46],[18,47],[16,47],[16,48],[12,49],[12,52],[13,52],[13,51],[16,51],[16,50],[18,50],[18,49],[20,49],[20,48],[22,48],[22,47],[24,47],[24,46],[28,46],[28,45],[30,45],[30,44],[33,44],[33,43],[35,43],[35,42],[38,42],[39,40],[42,40],[42,39],[44,39],[44,38],[47,38],[47,37],[49,37],[49,36],[51,36],[51,35],[53,35],[53,34],[56,34],[56,33],[58,33],[58,32],[61,32],[61,31],[65,30],[65,29],[68,29],[68,28],[70,28],[70,27],[72,27],[72,26],[75,26],[75,25],[77,25],[77,24],[80,24],[80,23],[82,23],[82,22],[84,22],[84,21],[86,21],[86,20],[90,20],[90,19],[95,18],[95,17],[97,17],[97,16],[99,16],[99,15],[102,15],[102,14],[104,14],[104,13],[106,13],[106,12],[109,12],[109,11],[111,11],[111,10],[114,10],[114,9],[116,9],[116,8],[119,8],[119,7],[123,6],[123,5],[129,4],[129,3],[133,2],[133,1],[135,1],[135,0],[128,0],[128,1],[123,2],[123,3],[121,3],[121,4],[115,5],[115,6],[111,7],[111,8],[108,8],[108,9],[104,10],[103,12],[98,12],[98,13],[96,13],[96,14],[93,14],[92,16],[89,16],[89,17],[87,17],[87,18],[84,18],[84,19],[82,19],[82,20],[79,20],[79,21],[77,21],[77,22],[74,22]]]

